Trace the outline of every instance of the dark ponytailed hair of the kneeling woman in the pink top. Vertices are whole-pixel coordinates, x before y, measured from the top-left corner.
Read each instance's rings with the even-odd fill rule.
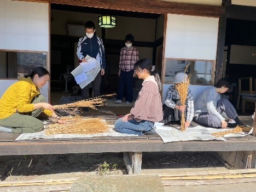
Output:
[[[160,92],[162,88],[161,80],[158,75],[158,71],[156,71],[155,69],[152,71],[152,67],[153,64],[150,59],[141,59],[134,64],[134,70],[137,70],[138,68],[142,70],[147,69],[148,73],[155,77],[155,81],[158,83],[158,91]]]

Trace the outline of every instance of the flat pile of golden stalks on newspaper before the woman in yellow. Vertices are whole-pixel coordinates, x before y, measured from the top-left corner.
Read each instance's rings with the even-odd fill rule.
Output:
[[[61,120],[67,124],[48,124],[45,134],[95,134],[108,130],[108,125],[101,118],[62,117]]]

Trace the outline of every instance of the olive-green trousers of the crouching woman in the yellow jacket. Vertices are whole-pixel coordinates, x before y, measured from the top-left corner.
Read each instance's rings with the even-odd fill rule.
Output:
[[[45,103],[43,95],[37,95],[31,103]],[[3,126],[12,127],[13,133],[35,133],[43,130],[44,123],[37,119],[42,112],[42,109],[37,109],[27,113],[14,113],[13,115],[0,119],[0,124]],[[8,132],[8,131],[7,131]]]

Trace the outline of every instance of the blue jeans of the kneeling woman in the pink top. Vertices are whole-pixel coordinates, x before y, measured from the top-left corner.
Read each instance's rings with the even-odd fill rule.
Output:
[[[131,119],[123,122],[122,119],[120,118],[115,122],[115,130],[120,133],[142,135],[143,131],[150,131],[154,128],[154,122],[151,121],[142,120],[137,122],[135,119]]]

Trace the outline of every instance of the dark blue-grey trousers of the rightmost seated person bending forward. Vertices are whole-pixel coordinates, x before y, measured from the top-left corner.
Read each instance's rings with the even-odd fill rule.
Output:
[[[220,99],[217,103],[216,109],[218,113],[222,114],[224,112],[228,118],[233,120],[238,116],[235,107],[228,99]],[[208,112],[201,113],[198,117],[194,118],[194,121],[206,127],[222,127],[220,119]]]

